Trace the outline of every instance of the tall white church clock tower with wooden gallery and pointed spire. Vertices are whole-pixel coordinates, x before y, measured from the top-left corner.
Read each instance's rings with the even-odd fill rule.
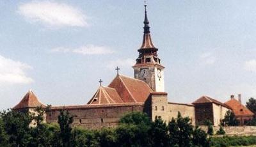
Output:
[[[157,48],[154,47],[150,27],[148,26],[147,5],[145,4],[144,35],[143,42],[138,49],[139,57],[136,59],[134,78],[147,82],[150,88],[156,92],[164,92],[164,66],[157,56]]]

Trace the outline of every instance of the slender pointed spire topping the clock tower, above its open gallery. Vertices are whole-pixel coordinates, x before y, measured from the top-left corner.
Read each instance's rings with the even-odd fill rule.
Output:
[[[150,36],[150,27],[149,27],[149,21],[148,21],[148,17],[147,17],[147,4],[144,4],[145,6],[145,18],[144,18],[144,35],[143,35],[143,42],[142,45],[140,47],[140,49],[156,49],[156,47],[154,47],[152,40],[151,40],[151,36]]]

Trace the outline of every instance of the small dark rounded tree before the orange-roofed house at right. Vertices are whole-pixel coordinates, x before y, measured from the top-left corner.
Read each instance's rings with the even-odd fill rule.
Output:
[[[236,119],[234,112],[228,110],[224,116],[224,119],[221,120],[222,126],[237,126],[239,121]]]

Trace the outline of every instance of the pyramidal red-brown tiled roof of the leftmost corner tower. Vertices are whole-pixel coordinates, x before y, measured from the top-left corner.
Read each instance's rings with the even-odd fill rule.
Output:
[[[28,93],[22,98],[19,104],[15,105],[13,109],[22,109],[22,108],[33,108],[33,107],[46,107],[44,104],[39,102],[36,95],[29,90]]]

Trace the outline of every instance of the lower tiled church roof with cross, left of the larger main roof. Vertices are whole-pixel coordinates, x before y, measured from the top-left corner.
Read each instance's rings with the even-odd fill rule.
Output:
[[[117,104],[123,103],[116,89],[100,86],[88,104]]]

